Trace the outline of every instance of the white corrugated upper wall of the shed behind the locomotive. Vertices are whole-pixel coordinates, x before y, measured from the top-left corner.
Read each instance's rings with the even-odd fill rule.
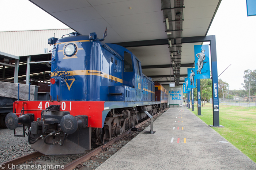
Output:
[[[52,50],[47,43],[50,37],[61,36],[75,32],[72,29],[42,29],[29,31],[1,31],[0,51],[16,56],[44,54],[44,49]]]

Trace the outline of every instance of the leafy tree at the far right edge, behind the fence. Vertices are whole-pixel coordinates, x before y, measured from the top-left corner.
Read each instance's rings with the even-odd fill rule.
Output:
[[[256,70],[245,70],[244,71],[244,83],[242,85],[246,89],[249,96],[255,94],[255,80],[256,80]]]

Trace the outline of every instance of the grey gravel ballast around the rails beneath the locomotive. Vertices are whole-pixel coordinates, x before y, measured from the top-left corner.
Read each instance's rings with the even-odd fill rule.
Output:
[[[155,118],[157,119],[159,116],[163,114],[158,114]],[[146,129],[147,126],[150,125],[150,121],[142,124],[138,131],[131,131],[131,133],[127,134],[125,137],[121,138],[119,141],[115,142],[113,145],[110,145],[107,149],[102,150],[99,154],[95,155],[88,161],[82,163],[75,170],[94,170],[103,162],[105,162],[109,157],[111,157],[114,153],[116,153],[119,149],[121,149],[124,145],[126,145],[129,141],[131,141],[136,135],[138,135],[141,131]],[[16,134],[22,134],[22,127],[18,127],[16,129]],[[27,136],[23,137],[14,137],[13,130],[9,129],[0,129],[0,163],[9,161],[11,159],[20,157],[22,155],[26,155],[34,152],[35,150],[30,148],[29,143],[27,142]],[[97,146],[96,146],[97,147]],[[23,167],[24,170],[29,170],[29,167],[32,165],[39,165],[42,169],[51,169],[55,170],[55,165],[67,165],[69,162],[74,161],[75,159],[81,157],[83,154],[78,155],[42,155],[41,157],[31,159],[19,167]],[[48,165],[48,168],[45,168]],[[52,165],[52,166],[50,166]],[[44,167],[43,167],[44,166]],[[42,170],[37,168],[38,170]],[[18,170],[18,169],[17,169]]]

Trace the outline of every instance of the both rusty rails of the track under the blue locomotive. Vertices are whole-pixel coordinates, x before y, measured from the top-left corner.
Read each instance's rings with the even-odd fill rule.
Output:
[[[157,115],[159,115],[160,113],[162,112],[165,112],[168,108],[166,108],[165,110],[159,112],[158,114],[155,114],[153,116],[153,118]],[[147,120],[144,120],[143,122],[137,124],[135,127],[139,127],[140,125],[146,123],[147,121],[150,121],[150,118],[147,119]],[[91,157],[97,155],[98,153],[100,153],[102,150],[105,150],[107,149],[110,145],[112,145],[113,143],[115,143],[116,141],[120,140],[121,138],[123,138],[125,135],[129,134],[130,132],[132,131],[132,129],[128,130],[128,131],[125,131],[123,134],[121,134],[120,136],[110,140],[109,142],[107,142],[106,144],[104,145],[101,145],[97,148],[95,148],[94,150],[91,150],[89,151],[88,153],[86,153],[85,155],[83,155],[82,157],[79,157],[78,159],[75,159],[74,161],[68,163],[67,165],[64,166],[63,169],[58,169],[58,170],[72,170],[72,169],[75,169],[76,167],[78,166],[82,166],[81,163],[89,160]],[[1,163],[1,166],[0,166],[0,170],[5,170],[5,169],[8,169],[8,165],[19,165],[19,164],[22,164],[26,161],[29,161],[30,159],[33,159],[33,158],[37,158],[37,157],[40,157],[42,156],[43,154],[39,153],[39,152],[33,152],[33,153],[30,153],[30,154],[27,154],[27,155],[23,155],[22,157],[18,157],[18,158],[15,158],[15,159],[12,159],[10,161],[7,161],[7,162],[3,162]]]

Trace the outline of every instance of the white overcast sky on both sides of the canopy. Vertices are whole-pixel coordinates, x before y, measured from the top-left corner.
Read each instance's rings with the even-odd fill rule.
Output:
[[[28,0],[0,0],[0,31],[68,28]],[[208,35],[216,35],[218,75],[230,89],[242,88],[244,70],[256,69],[256,16],[246,0],[222,0]]]

